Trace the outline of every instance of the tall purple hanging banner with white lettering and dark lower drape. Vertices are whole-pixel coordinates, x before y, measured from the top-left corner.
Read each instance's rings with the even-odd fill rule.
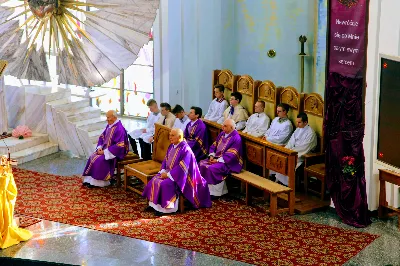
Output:
[[[355,227],[371,223],[363,148],[368,3],[329,1],[325,179],[336,213]]]

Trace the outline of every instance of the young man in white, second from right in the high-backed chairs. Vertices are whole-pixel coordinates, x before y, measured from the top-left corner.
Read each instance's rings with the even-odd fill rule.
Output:
[[[285,103],[278,104],[276,108],[277,117],[272,120],[271,126],[265,133],[264,139],[269,142],[285,145],[289,138],[290,134],[293,132],[293,125],[287,117],[287,113],[289,112],[289,105]]]

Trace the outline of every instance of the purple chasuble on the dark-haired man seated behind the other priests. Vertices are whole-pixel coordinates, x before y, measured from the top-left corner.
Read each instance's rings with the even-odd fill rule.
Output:
[[[187,144],[192,149],[197,162],[207,157],[208,151],[208,135],[207,128],[203,121],[197,119],[191,125],[191,122],[186,125],[185,132],[183,132]]]

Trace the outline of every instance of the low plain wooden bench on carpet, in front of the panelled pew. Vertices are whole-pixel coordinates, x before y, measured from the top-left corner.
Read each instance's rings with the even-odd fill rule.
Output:
[[[294,204],[290,200],[290,194],[292,192],[291,188],[272,182],[271,180],[265,179],[249,171],[241,171],[238,174],[232,173],[231,176],[246,183],[246,205],[251,204],[252,195],[249,187],[249,185],[251,185],[269,193],[269,214],[271,217],[275,217],[278,213],[287,211],[289,211],[290,215],[294,214]],[[281,193],[287,194],[289,206],[288,208],[280,208],[278,210],[278,195]]]

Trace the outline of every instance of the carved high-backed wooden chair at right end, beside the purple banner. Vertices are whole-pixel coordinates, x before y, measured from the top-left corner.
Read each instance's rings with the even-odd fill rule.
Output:
[[[314,129],[318,138],[316,153],[304,156],[304,190],[320,195],[321,200],[325,198],[325,150],[323,145],[324,132],[324,101],[317,93],[310,93],[304,96],[304,112],[308,116],[308,124]],[[321,182],[319,191],[309,188],[309,177],[316,177]]]

